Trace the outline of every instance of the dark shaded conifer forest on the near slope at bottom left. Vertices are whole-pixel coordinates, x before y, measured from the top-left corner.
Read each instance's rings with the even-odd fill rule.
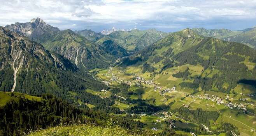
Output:
[[[0,107],[0,135],[23,135],[30,131],[72,124],[94,124],[105,126],[116,124],[126,129],[139,130],[144,125],[123,117],[105,114],[87,107],[78,108],[51,95],[42,95],[41,100],[28,100],[16,93],[10,95],[7,103]],[[0,97],[4,99],[4,97]]]

